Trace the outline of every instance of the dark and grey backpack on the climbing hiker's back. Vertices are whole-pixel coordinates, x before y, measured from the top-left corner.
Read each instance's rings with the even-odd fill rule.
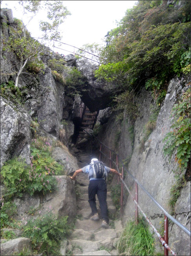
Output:
[[[90,163],[88,179],[90,178],[106,178],[106,172],[102,161],[93,161],[93,164]]]

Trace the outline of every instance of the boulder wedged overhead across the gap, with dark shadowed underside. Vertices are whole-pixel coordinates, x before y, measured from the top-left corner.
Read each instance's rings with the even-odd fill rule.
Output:
[[[87,80],[86,91],[82,91],[82,101],[91,112],[104,109],[110,102],[110,93],[104,89],[105,83],[95,78],[95,70],[99,66],[88,59],[79,59],[76,61],[76,68]]]

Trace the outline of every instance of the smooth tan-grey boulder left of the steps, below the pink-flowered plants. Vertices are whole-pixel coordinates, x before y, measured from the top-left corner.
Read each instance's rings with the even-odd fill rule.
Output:
[[[76,216],[76,195],[72,180],[67,176],[55,176],[58,181],[58,189],[44,197],[31,197],[28,194],[23,195],[23,198],[15,198],[14,203],[17,206],[16,219],[27,221],[31,216],[27,215],[30,207],[38,209],[43,215],[47,211],[54,211],[57,218],[69,216],[71,221]],[[38,215],[38,212],[36,215]]]

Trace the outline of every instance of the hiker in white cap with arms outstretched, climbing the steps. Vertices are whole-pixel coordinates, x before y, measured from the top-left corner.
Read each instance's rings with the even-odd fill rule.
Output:
[[[100,164],[101,163],[101,164]],[[98,172],[97,172],[98,166]],[[101,161],[98,161],[97,158],[93,158],[89,165],[86,165],[82,169],[76,170],[72,177],[72,180],[75,180],[78,173],[88,173],[89,176],[89,186],[88,186],[88,197],[89,205],[91,207],[92,216],[91,220],[99,220],[98,210],[96,208],[96,194],[100,202],[101,217],[102,217],[102,227],[109,228],[109,218],[107,216],[107,184],[106,177],[109,172],[115,173],[118,176],[122,176],[121,173],[118,173],[115,169],[111,169],[107,166],[104,166]],[[101,173],[101,174],[96,174]],[[101,175],[101,176],[100,176]]]

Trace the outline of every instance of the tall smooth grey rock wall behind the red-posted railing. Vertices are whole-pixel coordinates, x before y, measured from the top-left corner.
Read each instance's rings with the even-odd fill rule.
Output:
[[[153,105],[152,97],[144,90],[137,101],[137,104],[139,104],[140,107],[138,110],[139,117],[136,119],[135,125],[133,126],[129,121],[127,113],[124,113],[122,122],[116,119],[118,115],[117,113],[112,113],[109,121],[102,126],[102,133],[98,136],[100,141],[118,152],[121,159],[124,159],[126,162],[126,166],[128,164],[127,169],[130,173],[135,176],[135,178],[168,212],[171,211],[168,206],[168,200],[170,198],[170,188],[176,182],[173,170],[176,169],[177,163],[174,161],[175,159],[169,163],[168,157],[164,157],[164,143],[162,140],[167,132],[170,131],[171,109],[177,98],[179,99],[186,88],[188,88],[188,84],[189,81],[186,78],[175,78],[169,82],[166,98],[156,121],[156,128],[151,132],[149,137],[146,138],[144,143],[144,137],[146,136],[145,127],[149,121],[149,117],[153,113],[151,110],[151,106]],[[103,148],[103,152],[109,157],[109,150],[107,150],[107,148]],[[108,163],[106,158],[102,158],[101,160]],[[127,186],[131,188],[132,194],[135,195],[135,182],[128,174],[126,174],[125,182]],[[124,190],[124,193],[126,193],[125,191],[126,190]],[[180,219],[180,223],[190,230],[189,190],[184,189],[184,192],[182,191],[182,193],[184,193],[185,199],[180,197],[177,201],[177,208],[175,210],[176,215],[174,217],[177,216]],[[149,217],[156,229],[159,230],[161,225],[160,222],[163,222],[164,215],[140,188],[138,193],[138,202],[147,217]],[[131,196],[127,197],[126,194],[124,196],[124,204],[123,222],[125,223],[128,218],[135,218],[135,203]],[[177,230],[175,230],[175,227],[176,225],[174,224],[172,228],[169,228],[169,237],[171,242],[169,245],[173,244],[174,251],[176,253],[189,255],[189,236],[180,231],[180,228],[178,227],[176,227]],[[175,241],[180,240],[180,237],[177,235],[178,232],[183,233],[184,235],[181,235],[181,242],[175,243]],[[187,247],[182,246],[183,240],[187,244]],[[156,244],[158,244],[158,242],[156,242]],[[158,245],[156,247],[157,250],[161,249]]]

